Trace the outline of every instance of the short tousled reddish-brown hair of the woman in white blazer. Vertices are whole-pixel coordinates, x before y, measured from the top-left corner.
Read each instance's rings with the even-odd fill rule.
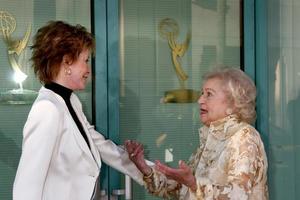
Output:
[[[65,55],[76,61],[83,50],[94,52],[95,40],[81,25],[49,21],[37,31],[31,48],[34,73],[40,82],[49,83],[58,75]]]

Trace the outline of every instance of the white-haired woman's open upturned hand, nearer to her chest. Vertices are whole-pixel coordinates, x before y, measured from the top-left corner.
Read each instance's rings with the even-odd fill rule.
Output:
[[[195,176],[193,175],[191,168],[184,161],[179,161],[177,169],[164,165],[160,161],[156,161],[155,168],[165,174],[167,178],[173,179],[178,183],[186,185],[193,191],[196,191],[197,184]]]

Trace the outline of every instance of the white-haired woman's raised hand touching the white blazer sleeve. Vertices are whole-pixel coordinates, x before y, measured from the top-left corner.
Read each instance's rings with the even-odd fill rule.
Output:
[[[126,140],[124,146],[128,152],[129,159],[136,165],[136,167],[144,175],[150,174],[152,169],[146,164],[143,145],[133,140]]]

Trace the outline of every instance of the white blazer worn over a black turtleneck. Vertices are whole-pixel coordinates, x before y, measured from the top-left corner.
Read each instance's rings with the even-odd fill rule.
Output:
[[[14,200],[89,200],[101,160],[143,184],[142,174],[128,154],[95,131],[78,97],[71,104],[87,134],[87,146],[61,96],[42,87],[23,130],[22,155]]]

